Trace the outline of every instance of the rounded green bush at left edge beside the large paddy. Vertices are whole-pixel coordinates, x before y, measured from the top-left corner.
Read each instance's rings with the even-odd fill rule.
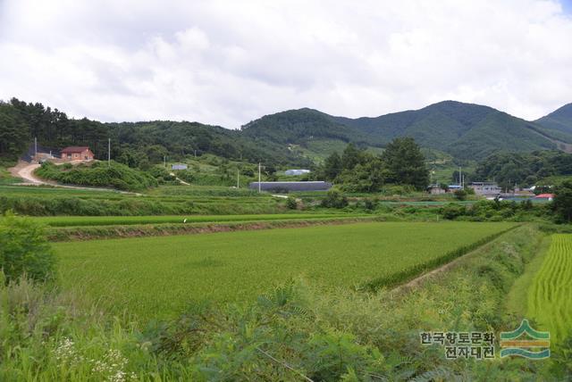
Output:
[[[31,220],[4,215],[0,220],[0,268],[6,283],[23,275],[36,281],[53,278],[55,256],[43,228]]]

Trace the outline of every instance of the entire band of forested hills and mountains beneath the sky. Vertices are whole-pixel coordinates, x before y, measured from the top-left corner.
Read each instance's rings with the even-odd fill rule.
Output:
[[[572,104],[534,122],[454,101],[357,119],[299,109],[266,115],[231,130],[187,121],[74,120],[42,104],[15,98],[0,103],[0,156],[20,156],[33,137],[38,137],[39,145],[54,149],[88,145],[98,158],[106,157],[111,138],[112,156],[139,167],[161,162],[164,155],[177,159],[195,150],[249,162],[309,166],[348,143],[379,153],[395,137],[413,137],[425,150],[458,160],[480,160],[498,151],[567,148],[564,143],[572,143]]]

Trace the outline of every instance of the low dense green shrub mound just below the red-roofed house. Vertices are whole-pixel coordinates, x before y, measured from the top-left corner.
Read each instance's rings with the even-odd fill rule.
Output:
[[[130,169],[117,162],[111,162],[111,166],[107,162],[80,164],[71,170],[64,167],[60,169],[51,162],[45,162],[36,170],[36,174],[64,184],[113,187],[128,191],[141,191],[157,186],[157,181],[151,174]]]

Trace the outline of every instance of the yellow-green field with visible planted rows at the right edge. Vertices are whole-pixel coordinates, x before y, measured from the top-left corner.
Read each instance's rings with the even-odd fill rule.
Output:
[[[551,246],[543,265],[529,289],[528,314],[544,330],[550,330],[551,339],[570,335],[572,322],[572,235],[552,236]]]

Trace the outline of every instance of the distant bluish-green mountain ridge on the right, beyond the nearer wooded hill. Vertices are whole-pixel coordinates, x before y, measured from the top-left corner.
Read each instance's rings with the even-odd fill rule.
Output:
[[[312,109],[290,110],[249,122],[242,132],[248,137],[302,146],[326,140],[383,147],[395,137],[414,137],[425,148],[478,160],[497,151],[532,152],[559,148],[559,142],[572,143],[569,106],[563,112],[559,109],[551,120],[557,119],[560,124],[569,120],[570,129],[568,125],[556,129],[543,119],[522,120],[489,106],[443,101],[374,118],[350,119]]]

